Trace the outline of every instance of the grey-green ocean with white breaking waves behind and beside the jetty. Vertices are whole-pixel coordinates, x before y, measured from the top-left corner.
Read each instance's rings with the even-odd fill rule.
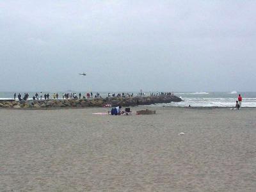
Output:
[[[72,91],[73,92],[73,91]],[[29,99],[35,95],[35,92],[28,92]],[[39,92],[38,92],[39,93]],[[45,92],[44,92],[45,93]],[[44,94],[43,93],[43,94]],[[51,96],[53,93],[47,92]],[[76,92],[77,95],[79,92]],[[82,95],[85,92],[81,92]],[[96,92],[93,92],[93,95]],[[102,97],[107,97],[108,92],[99,92]],[[112,93],[112,92],[111,92]],[[118,93],[118,92],[115,92]],[[122,93],[122,92],[120,92]],[[134,96],[137,95],[138,92],[133,92]],[[248,108],[256,108],[256,92],[239,92],[243,97],[242,107]],[[238,94],[236,91],[234,92],[174,92],[177,97],[180,97],[182,102],[171,102],[167,104],[156,104],[153,106],[176,106],[176,107],[234,107],[236,105],[236,100]],[[2,99],[13,99],[14,92],[0,92],[0,100]],[[18,92],[17,92],[18,94]],[[58,92],[59,97],[62,97],[62,92]],[[24,93],[22,92],[23,96]],[[146,92],[146,96],[150,95],[149,92]],[[51,97],[50,96],[50,97]],[[83,96],[82,96],[83,97]]]

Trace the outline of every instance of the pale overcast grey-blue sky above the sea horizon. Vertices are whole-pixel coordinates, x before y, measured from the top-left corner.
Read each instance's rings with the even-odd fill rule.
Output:
[[[256,1],[1,0],[0,29],[0,92],[256,91]]]

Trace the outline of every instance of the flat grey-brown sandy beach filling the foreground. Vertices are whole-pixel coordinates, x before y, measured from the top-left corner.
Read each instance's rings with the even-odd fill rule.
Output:
[[[0,191],[256,191],[256,109],[104,111],[0,109]]]

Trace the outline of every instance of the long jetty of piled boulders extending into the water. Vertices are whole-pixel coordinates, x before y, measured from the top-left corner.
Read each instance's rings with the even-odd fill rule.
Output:
[[[41,109],[41,108],[87,108],[87,107],[102,107],[106,104],[111,106],[138,106],[150,105],[156,103],[169,103],[182,101],[175,95],[168,96],[150,96],[150,97],[107,97],[95,99],[68,99],[68,100],[27,100],[27,101],[1,101],[0,108],[15,108],[15,109]]]

